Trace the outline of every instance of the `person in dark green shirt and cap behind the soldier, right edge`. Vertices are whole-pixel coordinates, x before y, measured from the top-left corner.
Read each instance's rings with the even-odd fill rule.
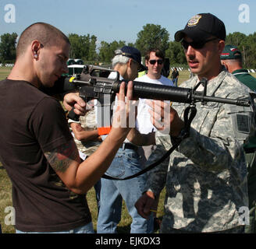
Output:
[[[240,82],[256,92],[256,79],[243,68],[242,53],[236,46],[226,45],[220,56],[222,65],[228,72],[236,76]],[[245,226],[246,233],[256,233],[256,137],[252,137],[244,145],[245,158],[247,161],[247,182],[250,209],[250,225]]]

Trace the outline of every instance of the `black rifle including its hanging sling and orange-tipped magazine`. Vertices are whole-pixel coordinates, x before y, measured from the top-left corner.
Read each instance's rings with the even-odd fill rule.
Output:
[[[128,83],[127,80],[119,80],[119,73],[116,72],[114,79],[108,78],[110,72],[116,72],[108,68],[102,68],[94,65],[85,65],[84,71],[80,75],[74,77],[67,77],[64,83],[64,92],[70,89],[77,89],[79,95],[85,102],[89,100],[98,100],[98,132],[99,135],[107,134],[111,128],[112,117],[112,102],[115,100],[116,93],[119,93],[119,87],[121,82]],[[112,180],[127,180],[133,177],[137,177],[140,174],[144,174],[146,171],[151,170],[153,167],[162,163],[174,149],[176,149],[180,142],[189,136],[190,124],[196,115],[195,103],[201,102],[203,104],[207,102],[229,103],[237,106],[249,107],[251,105],[250,100],[228,99],[215,96],[207,96],[207,79],[201,79],[200,82],[194,87],[182,88],[175,86],[163,86],[158,84],[151,84],[147,82],[133,81],[133,96],[151,100],[170,100],[172,102],[190,103],[190,106],[184,112],[185,128],[180,139],[175,142],[171,149],[164,156],[155,163],[152,163],[149,167],[141,170],[139,173],[126,178],[115,178],[104,175],[103,177]],[[198,86],[203,85],[204,91],[197,91]],[[105,115],[105,117],[104,117]],[[69,112],[69,118],[78,120],[79,116],[76,115],[73,110]]]

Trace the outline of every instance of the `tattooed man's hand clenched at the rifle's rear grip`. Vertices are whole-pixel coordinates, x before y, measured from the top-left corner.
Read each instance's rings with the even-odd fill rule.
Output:
[[[66,110],[71,110],[75,107],[75,114],[80,116],[84,116],[87,112],[86,103],[80,96],[78,96],[78,93],[67,93],[64,96],[63,105]]]

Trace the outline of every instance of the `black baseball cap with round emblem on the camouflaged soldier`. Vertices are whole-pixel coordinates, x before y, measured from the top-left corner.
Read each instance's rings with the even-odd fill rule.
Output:
[[[226,28],[222,20],[211,13],[197,14],[189,19],[183,30],[175,33],[175,40],[180,41],[187,35],[194,41],[208,40],[209,37],[226,39]]]

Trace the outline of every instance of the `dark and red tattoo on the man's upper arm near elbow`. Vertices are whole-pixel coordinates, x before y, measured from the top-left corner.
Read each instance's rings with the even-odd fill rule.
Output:
[[[65,145],[59,146],[51,152],[44,153],[44,156],[55,171],[64,173],[69,164],[79,157],[79,153],[75,142],[71,139]]]

